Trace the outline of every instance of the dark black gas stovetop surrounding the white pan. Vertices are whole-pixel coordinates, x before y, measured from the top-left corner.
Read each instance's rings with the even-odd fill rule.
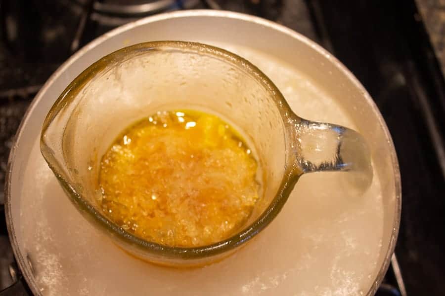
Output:
[[[2,0],[0,184],[24,112],[73,52],[134,19],[194,8],[281,23],[331,51],[363,83],[393,137],[403,191],[397,258],[377,295],[443,295],[445,83],[414,0]],[[13,260],[3,219],[0,290],[12,283]]]

